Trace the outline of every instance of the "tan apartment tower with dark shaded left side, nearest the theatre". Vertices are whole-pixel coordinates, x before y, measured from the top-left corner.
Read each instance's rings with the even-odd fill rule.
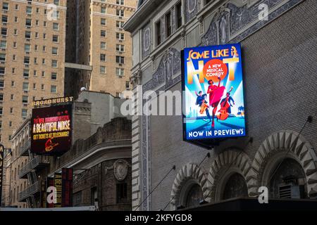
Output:
[[[66,70],[66,95],[81,87],[119,96],[130,89],[132,39],[123,24],[135,12],[136,0],[69,0],[66,56],[68,63],[92,71]]]

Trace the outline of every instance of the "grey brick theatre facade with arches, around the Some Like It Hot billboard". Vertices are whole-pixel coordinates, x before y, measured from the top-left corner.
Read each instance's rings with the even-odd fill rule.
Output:
[[[261,4],[268,20],[259,20]],[[182,116],[134,116],[132,209],[256,197],[260,186],[269,198],[284,198],[285,187],[298,190],[287,198],[316,198],[316,7],[312,0],[139,1],[125,24],[134,90],[180,91],[182,49],[240,42],[248,136],[206,150],[182,141]]]

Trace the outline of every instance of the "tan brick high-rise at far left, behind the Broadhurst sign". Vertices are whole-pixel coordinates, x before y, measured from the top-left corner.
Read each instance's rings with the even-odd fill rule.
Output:
[[[3,0],[0,7],[0,142],[11,148],[30,103],[63,96],[66,1]]]

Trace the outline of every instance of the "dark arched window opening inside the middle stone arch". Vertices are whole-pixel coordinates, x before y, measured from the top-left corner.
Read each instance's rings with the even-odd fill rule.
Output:
[[[247,197],[247,183],[241,174],[232,174],[223,188],[222,200],[237,197]]]

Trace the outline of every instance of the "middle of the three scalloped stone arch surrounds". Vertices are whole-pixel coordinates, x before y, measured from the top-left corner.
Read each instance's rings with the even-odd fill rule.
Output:
[[[230,167],[228,167],[230,166]],[[213,161],[209,170],[207,186],[209,187],[208,202],[220,200],[221,188],[234,173],[241,174],[247,182],[246,176],[251,169],[249,157],[244,152],[226,150]]]

